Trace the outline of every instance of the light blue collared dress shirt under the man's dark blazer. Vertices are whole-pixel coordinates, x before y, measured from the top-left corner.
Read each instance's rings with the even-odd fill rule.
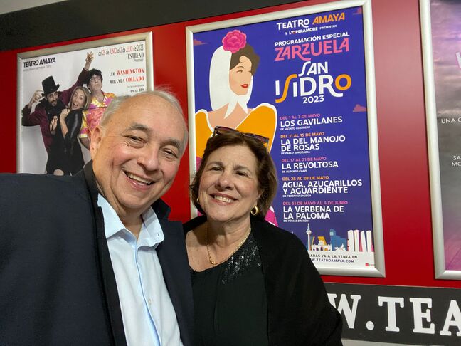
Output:
[[[97,205],[104,216],[128,345],[181,346],[176,313],[155,251],[164,240],[157,215],[152,208],[144,211],[136,239],[101,194]]]

